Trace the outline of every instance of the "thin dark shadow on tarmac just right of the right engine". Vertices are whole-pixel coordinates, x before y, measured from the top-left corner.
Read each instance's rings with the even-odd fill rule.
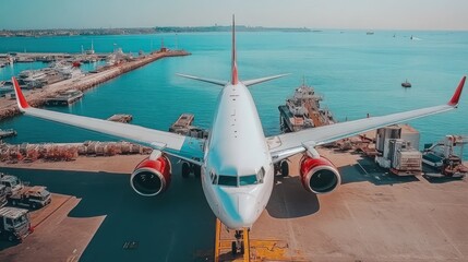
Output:
[[[392,186],[419,181],[415,176],[389,174],[387,169],[365,158],[359,159],[355,165],[339,167],[338,171],[341,174],[341,184],[368,181],[375,186]]]

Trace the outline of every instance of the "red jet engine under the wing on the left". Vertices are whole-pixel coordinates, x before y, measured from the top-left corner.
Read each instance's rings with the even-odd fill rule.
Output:
[[[130,177],[130,184],[136,193],[153,196],[166,191],[170,184],[170,162],[160,155],[156,159],[142,160]]]

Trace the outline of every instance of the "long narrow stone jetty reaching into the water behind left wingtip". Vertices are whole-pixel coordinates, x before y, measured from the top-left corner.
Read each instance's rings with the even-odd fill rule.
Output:
[[[84,92],[86,90],[93,88],[98,84],[105,83],[111,79],[139,69],[158,59],[189,55],[190,52],[187,52],[184,50],[164,49],[156,52],[152,52],[146,56],[139,57],[131,61],[119,62],[113,66],[106,67],[104,70],[100,70],[96,73],[89,73],[79,76],[76,79],[70,79],[53,84],[48,84],[45,85],[43,88],[25,91],[24,95],[26,96],[26,99],[28,100],[31,106],[41,107],[47,103],[50,97],[59,96],[62,92],[69,90]],[[20,115],[20,110],[16,107],[16,102],[13,98],[14,97],[0,98],[0,121]]]

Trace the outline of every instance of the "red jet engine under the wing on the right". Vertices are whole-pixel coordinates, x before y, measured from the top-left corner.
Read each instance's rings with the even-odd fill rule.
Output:
[[[320,158],[312,158],[303,155],[300,162],[300,175],[302,186],[309,192],[322,194],[335,190],[341,182],[341,176],[336,167],[321,156]]]

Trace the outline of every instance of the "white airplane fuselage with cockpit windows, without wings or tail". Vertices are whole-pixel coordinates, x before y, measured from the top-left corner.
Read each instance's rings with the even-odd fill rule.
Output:
[[[204,159],[202,186],[215,215],[230,229],[250,228],[272,194],[274,167],[243,84],[220,92]]]

